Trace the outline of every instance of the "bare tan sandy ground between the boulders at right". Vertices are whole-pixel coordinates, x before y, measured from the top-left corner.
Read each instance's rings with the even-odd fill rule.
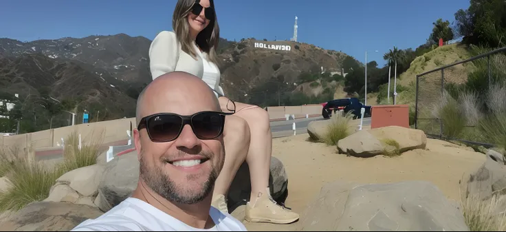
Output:
[[[300,134],[273,141],[273,156],[283,162],[289,178],[286,205],[300,214],[321,187],[334,180],[360,183],[428,180],[448,198],[459,202],[459,180],[463,173],[478,169],[486,158],[485,154],[472,151],[470,147],[434,139],[428,139],[425,150],[407,151],[395,158],[355,158],[337,154],[336,147],[307,142],[307,138],[307,134]],[[294,231],[300,228],[300,222],[288,225],[243,223],[250,231]]]

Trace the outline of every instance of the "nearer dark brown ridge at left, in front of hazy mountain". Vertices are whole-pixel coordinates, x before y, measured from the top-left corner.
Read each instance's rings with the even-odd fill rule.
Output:
[[[13,59],[0,59],[0,64],[2,94],[19,94],[23,99],[29,94],[47,92],[59,101],[76,99],[85,109],[92,105],[107,109],[109,118],[135,114],[133,98],[114,85],[104,84],[99,74],[89,72],[78,63],[57,63],[41,54],[22,54]]]

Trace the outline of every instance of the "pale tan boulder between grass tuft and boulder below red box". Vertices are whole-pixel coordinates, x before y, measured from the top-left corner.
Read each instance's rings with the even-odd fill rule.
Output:
[[[383,153],[383,145],[369,131],[357,131],[338,141],[340,154],[369,158]]]

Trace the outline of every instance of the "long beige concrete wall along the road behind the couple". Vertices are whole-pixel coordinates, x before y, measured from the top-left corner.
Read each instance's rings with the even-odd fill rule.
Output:
[[[286,114],[294,114],[296,118],[321,115],[322,105],[299,105],[299,106],[281,106],[267,107],[267,112],[271,120],[284,119]],[[103,143],[114,143],[120,140],[128,139],[126,131],[135,129],[135,118],[121,118],[117,120],[107,120],[97,123],[85,123],[69,127],[59,127],[56,129],[47,129],[44,131],[36,131],[28,134],[19,134],[14,136],[0,136],[0,145],[3,148],[17,147],[18,149],[34,151],[47,147],[57,147],[61,145],[61,139],[64,140],[76,131],[81,134],[83,142],[89,142],[102,136],[104,133]]]

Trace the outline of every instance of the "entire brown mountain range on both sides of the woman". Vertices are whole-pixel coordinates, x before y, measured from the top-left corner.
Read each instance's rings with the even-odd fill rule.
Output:
[[[255,48],[254,43],[259,42],[291,49]],[[45,93],[58,101],[70,101],[79,113],[87,109],[90,120],[133,116],[135,99],[152,80],[148,67],[150,44],[142,36],[126,34],[30,42],[0,39],[0,95],[10,98],[19,94],[21,101],[27,96],[40,97]],[[289,101],[293,94],[299,94],[299,102],[305,103],[307,98],[328,101],[338,87],[336,83],[328,81],[329,85],[324,83],[325,88],[305,94],[306,91],[296,90],[309,84],[300,76],[303,73],[318,76],[325,72],[331,78],[329,74],[340,74],[343,60],[351,58],[307,43],[255,39],[239,42],[220,39],[218,54],[225,95],[235,101],[262,106],[294,103]],[[353,58],[348,61],[362,65]],[[300,98],[300,94],[305,98]],[[316,99],[317,96],[320,98]],[[48,114],[39,108],[32,109],[35,115]],[[104,113],[98,114],[99,111]],[[63,125],[65,120],[62,119]]]

